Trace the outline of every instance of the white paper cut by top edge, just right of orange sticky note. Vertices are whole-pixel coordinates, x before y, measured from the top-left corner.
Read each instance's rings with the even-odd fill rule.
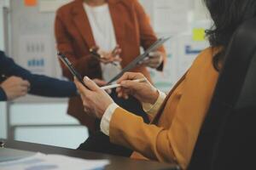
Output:
[[[40,12],[55,12],[65,3],[69,3],[72,0],[40,0],[39,11]]]

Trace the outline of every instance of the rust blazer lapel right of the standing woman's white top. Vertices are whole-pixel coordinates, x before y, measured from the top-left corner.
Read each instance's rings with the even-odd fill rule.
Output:
[[[119,11],[119,3],[120,0],[108,0],[108,7],[113,22],[116,41],[120,46],[122,46],[123,37],[125,36],[125,16]]]

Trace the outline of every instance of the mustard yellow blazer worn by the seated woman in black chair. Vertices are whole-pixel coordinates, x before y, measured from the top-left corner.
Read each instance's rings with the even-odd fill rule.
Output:
[[[117,108],[110,122],[111,142],[135,150],[132,158],[177,161],[185,169],[218,80],[218,71],[212,66],[213,54],[208,48],[195,59],[150,125]]]

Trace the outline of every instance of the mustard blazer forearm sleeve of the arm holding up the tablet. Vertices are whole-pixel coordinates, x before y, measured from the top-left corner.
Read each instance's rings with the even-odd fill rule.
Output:
[[[121,108],[111,118],[109,137],[114,144],[120,144],[157,161],[173,161],[175,156],[168,130],[148,125],[139,116]]]

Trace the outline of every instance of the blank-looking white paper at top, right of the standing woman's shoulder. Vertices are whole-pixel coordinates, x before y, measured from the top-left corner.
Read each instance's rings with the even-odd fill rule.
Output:
[[[177,34],[188,30],[189,0],[154,1],[154,29]]]

